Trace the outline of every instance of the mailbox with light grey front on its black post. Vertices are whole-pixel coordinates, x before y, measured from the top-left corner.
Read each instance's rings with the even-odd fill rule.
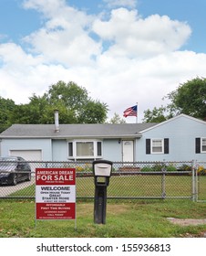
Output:
[[[107,187],[111,176],[112,162],[97,160],[93,162],[93,174],[95,177],[95,205],[94,222],[106,223]]]

